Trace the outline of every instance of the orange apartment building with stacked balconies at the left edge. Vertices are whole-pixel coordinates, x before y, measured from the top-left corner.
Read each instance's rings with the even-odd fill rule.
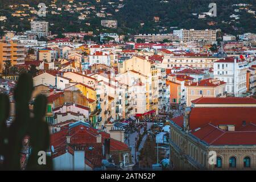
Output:
[[[24,64],[24,44],[14,40],[0,40],[0,72],[5,61],[11,61],[11,65]]]

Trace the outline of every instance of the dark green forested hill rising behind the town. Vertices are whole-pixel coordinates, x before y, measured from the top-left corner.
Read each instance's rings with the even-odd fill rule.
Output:
[[[31,7],[38,10],[36,6],[41,2],[47,6],[45,18],[38,18],[31,13]],[[206,15],[200,19],[199,14],[207,13],[210,10],[209,3],[212,2],[217,4],[217,16]],[[30,5],[30,9],[20,6],[22,4]],[[13,17],[16,10],[24,10],[24,14],[29,16]],[[29,30],[30,18],[34,17],[50,22],[50,31],[56,34],[63,31],[94,31],[96,34],[168,33],[177,27],[221,28],[222,32],[237,35],[244,32],[256,33],[255,10],[256,0],[0,0],[0,16],[7,16],[6,22],[0,22],[0,26],[1,31]],[[81,15],[86,17],[79,19]],[[118,20],[118,29],[101,27],[101,19]]]

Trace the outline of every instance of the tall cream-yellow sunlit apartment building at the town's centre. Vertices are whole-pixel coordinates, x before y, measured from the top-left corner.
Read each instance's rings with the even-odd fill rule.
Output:
[[[148,114],[158,114],[168,110],[170,94],[166,85],[166,71],[148,57],[134,56],[118,63],[119,73],[137,73],[141,82],[146,84],[146,109]],[[167,91],[167,92],[166,92]],[[144,113],[138,113],[144,114]]]

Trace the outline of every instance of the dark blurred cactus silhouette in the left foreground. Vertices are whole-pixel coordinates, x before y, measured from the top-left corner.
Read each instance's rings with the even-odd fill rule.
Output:
[[[46,164],[39,165],[38,151],[47,151],[49,148],[49,130],[43,120],[46,114],[47,98],[43,95],[36,97],[34,102],[34,117],[31,118],[29,102],[33,92],[33,80],[29,73],[19,76],[14,89],[15,118],[11,126],[6,126],[9,117],[9,97],[0,94],[0,155],[3,156],[1,169],[20,170],[20,152],[24,137],[28,136],[31,142],[31,155],[28,157],[27,169],[52,169],[51,159],[47,156]]]

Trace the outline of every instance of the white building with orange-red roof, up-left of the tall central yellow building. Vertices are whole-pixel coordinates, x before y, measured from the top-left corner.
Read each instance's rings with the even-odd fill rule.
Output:
[[[110,55],[101,51],[94,52],[92,55],[89,55],[89,65],[93,64],[105,64],[110,66]]]

